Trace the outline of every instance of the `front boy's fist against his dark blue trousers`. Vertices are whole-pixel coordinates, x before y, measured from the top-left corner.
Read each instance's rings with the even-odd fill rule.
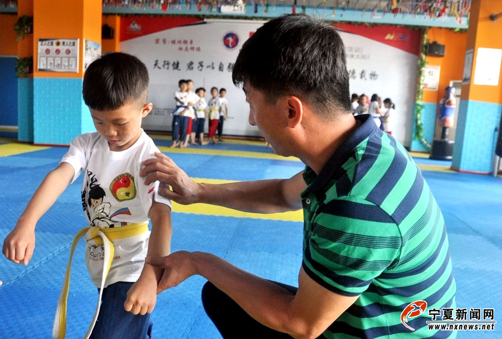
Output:
[[[157,302],[157,281],[140,277],[127,292],[124,309],[133,314],[152,313]]]

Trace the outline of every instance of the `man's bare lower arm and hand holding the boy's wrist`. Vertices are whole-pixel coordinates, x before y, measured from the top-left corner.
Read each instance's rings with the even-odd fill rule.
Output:
[[[297,338],[319,336],[358,298],[327,290],[303,268],[294,295],[210,253],[179,251],[164,258],[147,257],[147,262],[165,268],[159,293],[192,275],[201,275],[260,323]]]

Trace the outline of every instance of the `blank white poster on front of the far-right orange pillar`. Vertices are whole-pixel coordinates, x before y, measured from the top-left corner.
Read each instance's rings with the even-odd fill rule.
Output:
[[[478,48],[476,67],[474,68],[474,84],[498,86],[502,49]]]

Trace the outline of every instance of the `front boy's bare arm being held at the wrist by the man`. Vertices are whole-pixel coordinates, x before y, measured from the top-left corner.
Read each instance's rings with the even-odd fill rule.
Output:
[[[154,200],[150,208],[150,220],[152,220],[152,233],[148,242],[147,255],[169,255],[172,234],[171,208]],[[128,291],[124,309],[133,314],[151,313],[157,300],[157,283],[163,272],[163,268],[145,263],[140,278]]]

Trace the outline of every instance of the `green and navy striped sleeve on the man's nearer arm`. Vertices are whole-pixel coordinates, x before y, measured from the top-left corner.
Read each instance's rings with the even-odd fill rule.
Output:
[[[401,239],[398,225],[379,206],[334,199],[312,220],[302,266],[321,286],[357,296],[397,263]]]

